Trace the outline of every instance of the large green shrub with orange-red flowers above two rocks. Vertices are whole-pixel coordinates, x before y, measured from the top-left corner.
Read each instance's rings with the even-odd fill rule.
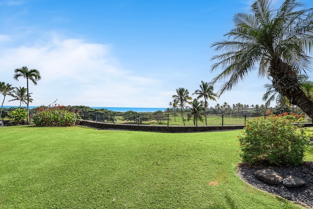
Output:
[[[299,125],[303,116],[269,115],[246,122],[239,139],[243,163],[298,165],[303,162],[310,137]]]

